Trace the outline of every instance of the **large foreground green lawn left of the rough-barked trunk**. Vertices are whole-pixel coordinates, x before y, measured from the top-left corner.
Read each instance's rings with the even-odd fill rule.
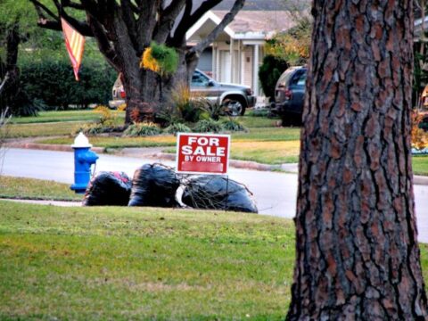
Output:
[[[284,319],[292,220],[0,206],[0,319]]]

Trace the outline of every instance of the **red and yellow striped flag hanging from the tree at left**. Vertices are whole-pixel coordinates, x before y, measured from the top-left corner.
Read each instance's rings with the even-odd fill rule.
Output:
[[[70,56],[70,61],[74,70],[74,77],[78,80],[78,69],[82,62],[83,50],[85,48],[85,37],[73,29],[70,24],[61,18],[62,33],[65,38],[65,46]]]

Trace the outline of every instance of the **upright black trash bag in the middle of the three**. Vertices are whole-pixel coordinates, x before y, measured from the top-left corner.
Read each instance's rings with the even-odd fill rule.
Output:
[[[162,164],[145,164],[134,173],[128,206],[175,207],[179,185],[174,169]]]

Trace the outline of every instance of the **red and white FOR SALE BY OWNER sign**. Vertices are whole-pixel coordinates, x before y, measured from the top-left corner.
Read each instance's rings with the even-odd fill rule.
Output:
[[[230,135],[177,134],[177,172],[226,174]]]

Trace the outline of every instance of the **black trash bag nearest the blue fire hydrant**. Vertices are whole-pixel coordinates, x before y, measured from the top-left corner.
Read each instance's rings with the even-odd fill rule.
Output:
[[[132,182],[123,172],[99,172],[86,187],[84,206],[127,206]]]

